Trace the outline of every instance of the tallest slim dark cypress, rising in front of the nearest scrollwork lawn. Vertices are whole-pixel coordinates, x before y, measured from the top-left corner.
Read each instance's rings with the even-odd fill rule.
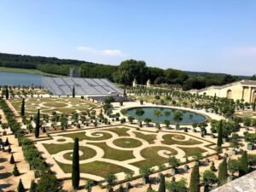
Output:
[[[72,185],[73,189],[79,189],[80,167],[79,167],[79,138],[76,137],[73,144],[73,166]]]

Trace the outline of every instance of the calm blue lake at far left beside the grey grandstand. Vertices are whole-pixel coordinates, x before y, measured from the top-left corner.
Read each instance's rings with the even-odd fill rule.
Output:
[[[41,85],[42,75],[31,73],[0,72],[1,85]]]

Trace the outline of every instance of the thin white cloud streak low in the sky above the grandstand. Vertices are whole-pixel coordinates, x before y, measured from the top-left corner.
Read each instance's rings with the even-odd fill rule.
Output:
[[[84,53],[90,53],[94,55],[108,55],[108,56],[124,56],[121,50],[119,49],[104,49],[104,50],[97,50],[87,46],[78,46],[76,47],[77,50],[83,51]]]

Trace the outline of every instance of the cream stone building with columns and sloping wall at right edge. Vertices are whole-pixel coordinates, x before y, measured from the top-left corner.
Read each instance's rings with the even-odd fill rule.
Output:
[[[241,80],[221,86],[210,86],[201,90],[189,90],[190,93],[200,95],[227,97],[230,99],[243,99],[244,102],[253,102],[256,99],[256,81]]]

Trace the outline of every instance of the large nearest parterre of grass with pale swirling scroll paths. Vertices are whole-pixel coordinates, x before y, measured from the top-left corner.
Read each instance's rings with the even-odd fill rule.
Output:
[[[134,176],[138,175],[139,168],[144,165],[168,166],[171,155],[185,161],[187,157],[192,159],[191,156],[194,154],[214,153],[207,147],[212,143],[197,137],[169,131],[139,131],[125,125],[70,131],[50,136],[51,140],[38,142],[37,146],[48,159],[55,160],[52,169],[59,178],[71,176],[75,137],[79,137],[81,177],[97,181],[101,181],[108,172],[113,172],[119,179],[124,179],[127,172],[134,172]]]

